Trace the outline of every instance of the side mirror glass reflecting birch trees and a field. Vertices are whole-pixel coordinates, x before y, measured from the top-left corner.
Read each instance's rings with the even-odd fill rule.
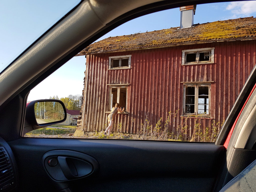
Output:
[[[38,124],[44,124],[63,120],[65,113],[59,102],[45,101],[35,103],[35,116]]]

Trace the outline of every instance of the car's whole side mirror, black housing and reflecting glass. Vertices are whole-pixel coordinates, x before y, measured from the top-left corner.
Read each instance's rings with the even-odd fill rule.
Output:
[[[35,100],[27,104],[23,136],[29,131],[64,122],[67,112],[62,101]]]

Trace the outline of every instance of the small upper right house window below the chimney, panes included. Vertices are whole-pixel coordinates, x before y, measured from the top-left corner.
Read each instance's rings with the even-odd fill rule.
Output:
[[[182,50],[182,65],[214,63],[214,47]]]

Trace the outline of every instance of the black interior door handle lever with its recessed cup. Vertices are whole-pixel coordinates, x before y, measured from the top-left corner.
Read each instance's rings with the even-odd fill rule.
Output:
[[[93,171],[90,163],[81,159],[58,156],[60,168],[67,179],[76,179],[89,175]]]

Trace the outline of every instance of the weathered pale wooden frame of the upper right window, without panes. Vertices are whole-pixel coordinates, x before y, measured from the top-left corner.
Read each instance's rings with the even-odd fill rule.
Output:
[[[198,64],[208,64],[214,63],[214,47],[200,48],[200,49],[186,49],[182,50],[182,65],[198,65]],[[199,54],[201,52],[210,52],[209,61],[199,61]],[[186,54],[196,53],[195,62],[186,62]]]

